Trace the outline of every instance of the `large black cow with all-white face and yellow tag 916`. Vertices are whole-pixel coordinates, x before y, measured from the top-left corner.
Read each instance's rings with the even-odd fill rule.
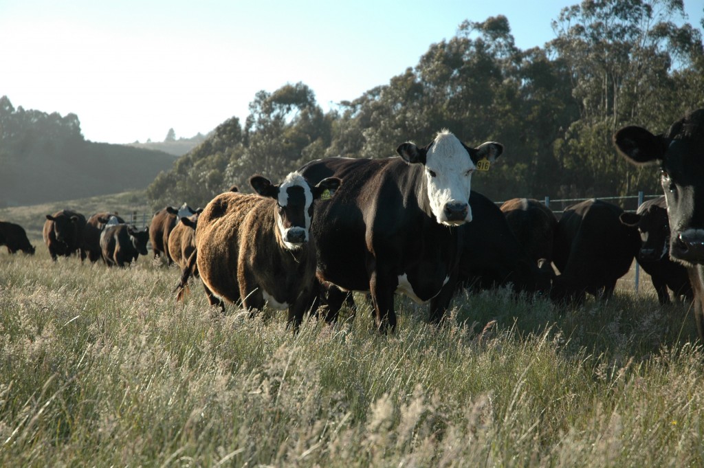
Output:
[[[396,157],[304,165],[301,173],[313,184],[332,176],[344,181],[313,220],[320,281],[370,291],[382,333],[396,329],[396,292],[429,302],[430,321],[441,322],[457,283],[458,227],[472,221],[472,172],[502,151],[494,141],[470,148],[444,130],[424,147],[401,144]]]

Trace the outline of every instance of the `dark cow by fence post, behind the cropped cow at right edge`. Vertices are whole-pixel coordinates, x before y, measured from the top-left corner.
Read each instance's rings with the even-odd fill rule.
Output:
[[[670,224],[665,196],[644,201],[636,213],[622,213],[620,219],[623,224],[638,228],[641,234],[641,250],[636,260],[650,275],[660,304],[670,303],[668,287],[674,298],[679,300],[685,296],[691,301],[694,293],[687,269],[670,259]]]

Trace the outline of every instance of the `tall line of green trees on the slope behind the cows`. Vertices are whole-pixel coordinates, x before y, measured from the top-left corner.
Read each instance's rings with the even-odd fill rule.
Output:
[[[555,39],[528,50],[503,15],[465,20],[389,84],[327,113],[303,83],[258,92],[244,122],[223,122],[148,195],[155,207],[202,205],[254,173],[280,179],[315,158],[392,156],[442,128],[505,145],[474,182],[496,200],[652,192],[652,168],[625,163],[611,137],[631,124],[665,131],[704,106],[704,24],[685,20],[681,0],[585,0],[553,20]]]

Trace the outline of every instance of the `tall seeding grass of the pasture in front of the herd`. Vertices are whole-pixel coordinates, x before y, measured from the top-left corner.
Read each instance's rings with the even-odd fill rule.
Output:
[[[398,298],[395,334],[362,305],[294,335],[199,284],[175,303],[178,275],[2,249],[0,466],[704,464],[703,350],[652,291],[461,293],[439,328]]]

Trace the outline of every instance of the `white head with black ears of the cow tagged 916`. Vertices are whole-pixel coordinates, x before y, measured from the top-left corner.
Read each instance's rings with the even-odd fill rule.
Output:
[[[404,143],[396,148],[396,152],[407,163],[425,165],[427,197],[437,222],[459,226],[472,221],[468,202],[477,161],[486,158],[493,163],[501,156],[503,146],[491,141],[478,148],[469,148],[443,130],[425,148]]]

